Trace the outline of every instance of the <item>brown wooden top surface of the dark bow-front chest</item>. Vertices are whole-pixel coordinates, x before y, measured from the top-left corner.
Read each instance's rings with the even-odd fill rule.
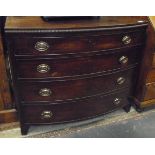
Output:
[[[125,25],[141,24],[138,21],[147,21],[146,17],[112,17],[102,16],[98,19],[87,20],[64,20],[45,22],[40,16],[26,17],[7,17],[5,29],[82,29],[82,28],[99,28],[99,27],[114,27]]]

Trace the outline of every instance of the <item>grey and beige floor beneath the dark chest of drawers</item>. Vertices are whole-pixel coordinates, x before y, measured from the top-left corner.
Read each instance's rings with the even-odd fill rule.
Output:
[[[59,125],[31,126],[21,136],[19,124],[12,129],[0,128],[0,137],[25,138],[155,138],[155,108],[137,113],[123,110],[94,119]]]

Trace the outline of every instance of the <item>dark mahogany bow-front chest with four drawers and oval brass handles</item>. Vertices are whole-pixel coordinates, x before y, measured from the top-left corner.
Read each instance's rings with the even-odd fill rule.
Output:
[[[22,134],[130,109],[145,45],[146,17],[47,23],[8,17],[10,72]]]

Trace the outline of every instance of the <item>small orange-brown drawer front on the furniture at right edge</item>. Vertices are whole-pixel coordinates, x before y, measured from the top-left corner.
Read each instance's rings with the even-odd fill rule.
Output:
[[[144,101],[155,99],[155,83],[147,84],[145,88]]]

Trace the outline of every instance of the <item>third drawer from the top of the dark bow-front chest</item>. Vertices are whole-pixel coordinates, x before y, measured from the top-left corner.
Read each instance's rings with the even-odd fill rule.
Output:
[[[22,102],[59,102],[107,93],[134,84],[136,70],[103,76],[53,82],[19,82]]]

